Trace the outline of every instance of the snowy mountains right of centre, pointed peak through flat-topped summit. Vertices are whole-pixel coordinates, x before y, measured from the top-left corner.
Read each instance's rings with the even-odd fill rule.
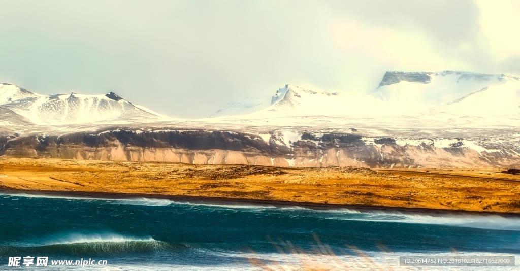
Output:
[[[285,85],[272,96],[270,105],[266,101],[257,102],[258,106],[235,102],[219,111],[226,112],[224,115],[246,112],[248,118],[261,119],[280,115],[386,118],[421,114],[436,114],[445,119],[443,114],[447,113],[487,118],[488,110],[492,115],[520,113],[519,89],[520,79],[509,74],[389,71],[379,86],[367,94],[329,93]],[[241,111],[244,107],[248,110]]]

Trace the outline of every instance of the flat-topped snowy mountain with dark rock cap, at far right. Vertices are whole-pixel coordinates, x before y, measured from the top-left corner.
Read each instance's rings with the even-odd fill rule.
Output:
[[[496,97],[505,92],[516,92],[520,89],[517,76],[509,74],[483,74],[462,71],[441,72],[386,72],[379,87],[371,93],[374,97],[386,101],[396,112],[424,112],[426,109],[438,108],[430,112],[450,112],[464,97],[473,96],[487,89],[487,93]],[[494,94],[493,94],[494,93]],[[481,115],[492,105],[492,100],[479,102],[476,97],[465,99],[465,109],[456,110],[460,115]],[[471,105],[469,103],[475,102]],[[487,105],[486,105],[487,104]],[[441,109],[442,108],[442,109]],[[440,110],[441,109],[441,110]],[[511,108],[510,108],[511,110]],[[514,113],[510,111],[509,113]]]

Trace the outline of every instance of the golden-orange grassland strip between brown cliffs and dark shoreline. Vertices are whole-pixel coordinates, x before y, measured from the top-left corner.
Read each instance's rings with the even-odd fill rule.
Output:
[[[281,168],[3,157],[0,188],[520,213],[520,175],[502,170]]]

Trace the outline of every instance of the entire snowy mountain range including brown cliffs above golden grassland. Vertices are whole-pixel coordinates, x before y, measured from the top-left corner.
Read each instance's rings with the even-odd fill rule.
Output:
[[[386,72],[375,85],[366,94],[285,85],[274,96],[232,102],[213,118],[168,121],[113,93],[9,94],[0,105],[0,156],[302,167],[520,166],[518,76]]]

